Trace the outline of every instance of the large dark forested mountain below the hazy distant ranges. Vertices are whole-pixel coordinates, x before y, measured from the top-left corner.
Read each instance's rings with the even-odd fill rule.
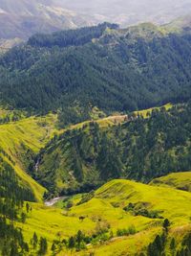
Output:
[[[152,24],[34,35],[0,58],[1,102],[35,112],[59,108],[66,125],[89,119],[93,106],[110,113],[187,101],[190,42],[188,30],[168,34]]]

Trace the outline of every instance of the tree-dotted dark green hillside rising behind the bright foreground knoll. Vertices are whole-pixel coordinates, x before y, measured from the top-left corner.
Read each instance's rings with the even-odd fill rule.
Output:
[[[149,182],[191,169],[191,105],[153,110],[111,128],[97,123],[55,136],[32,176],[55,195],[87,192],[119,177]]]

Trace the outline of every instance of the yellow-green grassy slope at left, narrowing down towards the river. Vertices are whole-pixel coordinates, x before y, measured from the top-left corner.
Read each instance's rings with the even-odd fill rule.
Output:
[[[93,112],[93,118],[100,114],[98,109]],[[97,120],[102,128],[115,126],[125,120],[126,116],[114,115]],[[36,155],[41,151],[55,134],[63,133],[58,128],[57,114],[46,116],[26,117],[26,112],[19,110],[0,109],[0,154],[21,178],[24,186],[30,187],[38,200],[42,199],[45,188],[40,186],[32,177],[31,169],[36,166]],[[82,128],[89,124],[81,123],[70,129]]]

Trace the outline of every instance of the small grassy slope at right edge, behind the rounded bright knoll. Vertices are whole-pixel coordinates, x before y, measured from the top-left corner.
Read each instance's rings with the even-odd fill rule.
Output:
[[[191,192],[191,172],[176,173],[155,178],[151,185],[171,186],[176,189]]]

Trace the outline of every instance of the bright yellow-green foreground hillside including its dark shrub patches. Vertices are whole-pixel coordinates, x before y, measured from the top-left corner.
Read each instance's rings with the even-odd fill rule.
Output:
[[[172,255],[169,245],[174,238],[176,245],[173,250],[178,255],[176,252],[182,240],[191,232],[190,193],[129,180],[112,180],[96,190],[93,197],[88,196],[84,195],[83,201],[81,197],[71,198],[74,206],[62,210],[31,203],[32,212],[26,223],[22,224],[26,241],[31,239],[35,231],[38,237],[48,239],[51,248],[53,240],[68,241],[77,230],[81,230],[89,238],[93,236],[85,242],[87,245],[81,242],[82,247],[77,252],[74,247],[61,244],[59,253],[58,242],[55,249],[57,255],[115,253],[119,256],[139,255],[142,252],[150,256],[152,254],[147,254],[147,247],[162,233],[162,223],[167,218],[170,226],[162,250],[166,255]],[[84,217],[84,220],[80,221],[80,217]],[[128,229],[129,234],[125,232]]]

